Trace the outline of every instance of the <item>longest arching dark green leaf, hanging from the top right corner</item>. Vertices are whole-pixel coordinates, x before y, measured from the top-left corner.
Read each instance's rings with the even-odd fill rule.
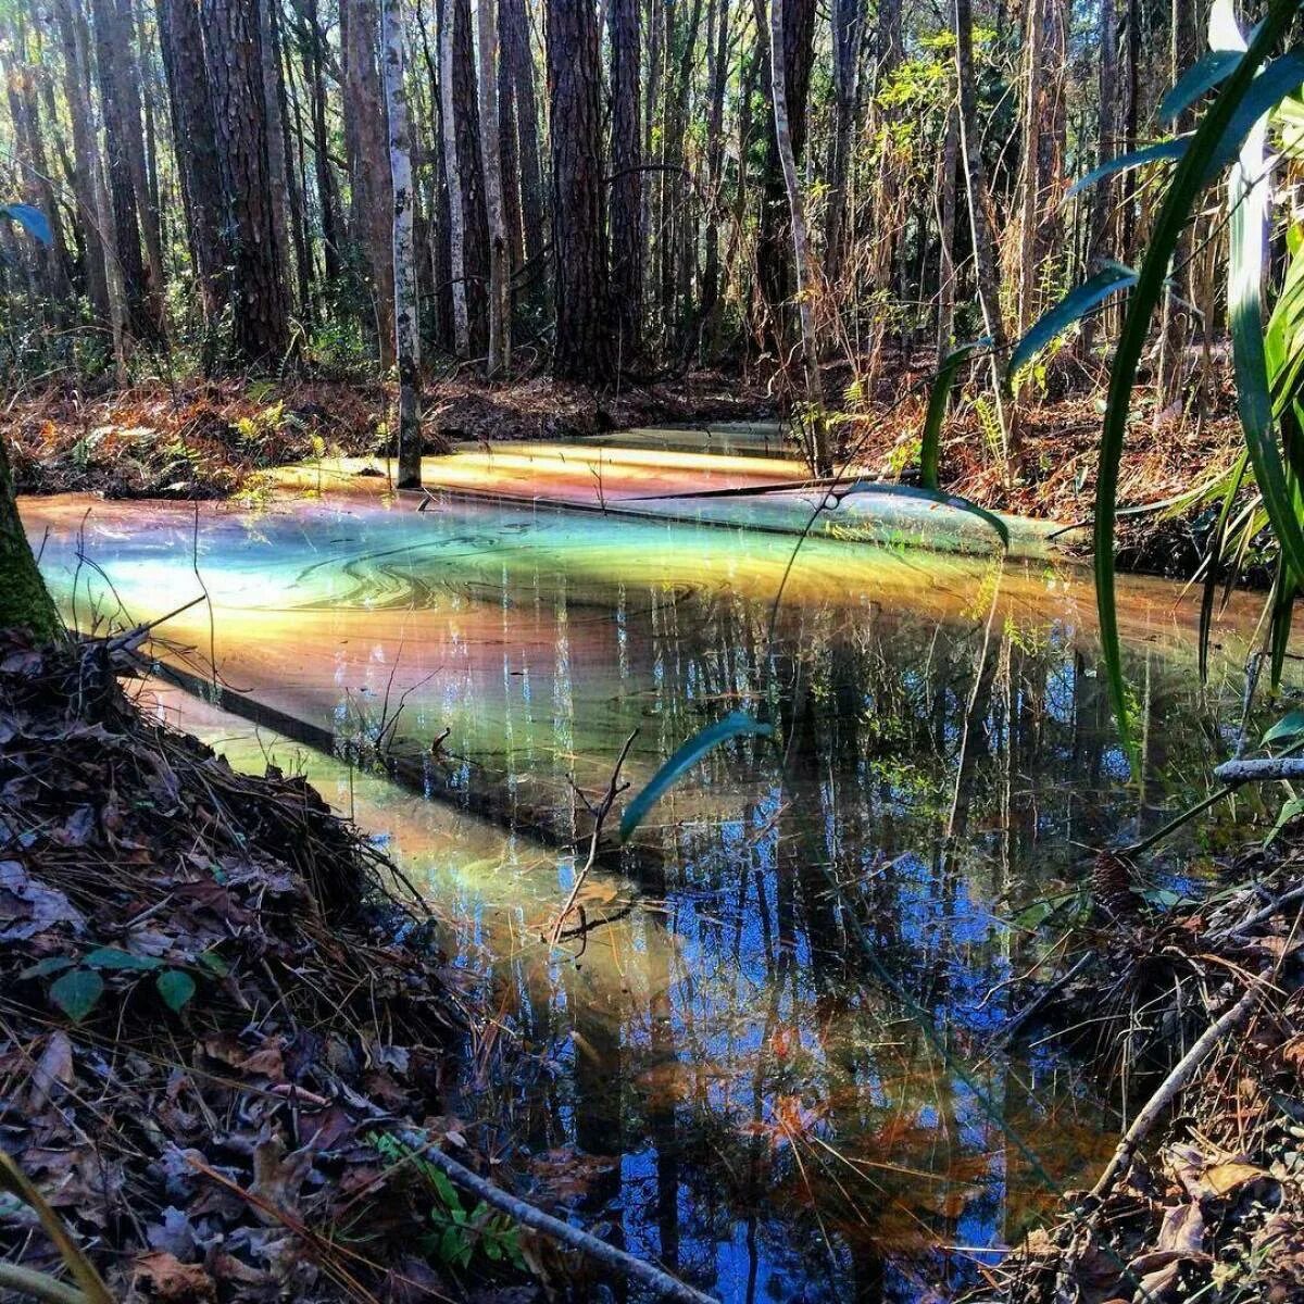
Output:
[[[1114,595],[1114,529],[1118,510],[1119,463],[1127,434],[1128,412],[1137,368],[1149,334],[1150,318],[1163,295],[1168,263],[1178,240],[1205,185],[1206,171],[1217,154],[1236,110],[1249,93],[1254,73],[1277,42],[1290,29],[1297,12],[1296,0],[1273,0],[1267,17],[1245,52],[1214,98],[1191,140],[1189,149],[1178,163],[1155,219],[1145,261],[1129,301],[1119,335],[1114,366],[1110,372],[1110,395],[1101,432],[1101,468],[1095,492],[1095,600],[1101,621],[1101,649],[1104,657],[1110,692],[1119,720],[1119,733],[1128,755],[1136,756],[1128,717],[1123,679],[1123,652],[1119,644],[1118,608]]]

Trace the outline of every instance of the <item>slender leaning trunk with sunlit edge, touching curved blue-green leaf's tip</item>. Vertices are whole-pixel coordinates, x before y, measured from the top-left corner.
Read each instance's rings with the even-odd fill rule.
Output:
[[[969,226],[973,235],[974,266],[978,279],[978,301],[982,308],[987,338],[991,340],[991,379],[996,399],[996,419],[1007,480],[1012,479],[1017,458],[1017,434],[1005,372],[1005,323],[1000,314],[1000,269],[996,262],[995,223],[987,170],[982,162],[982,138],[978,128],[978,93],[974,86],[973,10],[970,0],[956,0],[956,85],[960,100],[960,142],[965,164],[965,188],[969,197]]]

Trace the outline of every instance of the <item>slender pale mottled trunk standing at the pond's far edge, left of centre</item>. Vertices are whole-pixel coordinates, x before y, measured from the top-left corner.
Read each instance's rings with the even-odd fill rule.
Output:
[[[390,115],[390,176],[394,188],[394,355],[399,369],[400,489],[421,484],[421,338],[417,331],[416,244],[412,239],[412,154],[404,85],[403,12],[383,0],[382,64]]]

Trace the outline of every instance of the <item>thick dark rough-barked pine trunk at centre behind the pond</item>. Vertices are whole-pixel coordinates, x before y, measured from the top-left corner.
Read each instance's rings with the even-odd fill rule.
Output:
[[[553,372],[612,378],[602,232],[602,116],[597,13],[589,0],[548,0],[553,143]]]

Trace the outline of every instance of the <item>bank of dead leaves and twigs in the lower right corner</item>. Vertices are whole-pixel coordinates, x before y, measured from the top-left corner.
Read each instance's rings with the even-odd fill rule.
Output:
[[[1099,857],[1099,932],[1029,992],[1020,1035],[1076,1042],[1124,1085],[1129,1125],[965,1304],[1304,1297],[1304,838],[1224,872],[1157,908],[1134,865]]]

